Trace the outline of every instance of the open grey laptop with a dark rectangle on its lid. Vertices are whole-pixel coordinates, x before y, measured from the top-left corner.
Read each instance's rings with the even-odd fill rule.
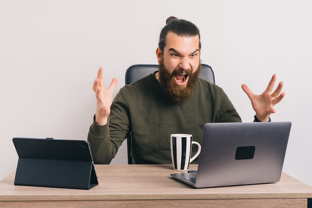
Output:
[[[195,188],[280,181],[291,122],[206,123],[197,171],[170,174]]]

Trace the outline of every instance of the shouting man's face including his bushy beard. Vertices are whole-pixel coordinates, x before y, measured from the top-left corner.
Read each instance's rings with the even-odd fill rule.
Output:
[[[157,48],[159,82],[175,103],[191,97],[200,72],[199,37],[180,37],[169,32],[163,53]]]

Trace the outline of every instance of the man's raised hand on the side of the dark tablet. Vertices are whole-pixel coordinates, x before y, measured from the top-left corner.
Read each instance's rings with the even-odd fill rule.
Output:
[[[108,121],[108,116],[111,113],[111,105],[113,103],[113,92],[117,85],[117,79],[113,78],[108,89],[103,83],[103,69],[100,67],[98,77],[94,80],[93,91],[96,97],[96,112],[95,121],[99,125],[105,125]]]

